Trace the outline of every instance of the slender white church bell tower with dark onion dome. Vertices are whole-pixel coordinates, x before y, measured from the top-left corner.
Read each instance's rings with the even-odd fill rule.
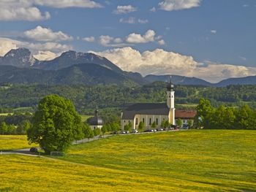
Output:
[[[167,107],[169,108],[169,123],[175,125],[175,107],[174,107],[174,85],[170,77],[170,82],[167,85]]]

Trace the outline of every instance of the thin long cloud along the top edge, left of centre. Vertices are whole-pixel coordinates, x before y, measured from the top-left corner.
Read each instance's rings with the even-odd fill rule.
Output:
[[[83,7],[83,8],[99,8],[101,4],[91,0],[34,0],[34,4],[55,8],[67,8],[67,7]]]

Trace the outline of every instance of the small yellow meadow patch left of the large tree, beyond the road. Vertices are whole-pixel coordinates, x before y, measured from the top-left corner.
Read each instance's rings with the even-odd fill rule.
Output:
[[[37,146],[29,145],[26,135],[0,135],[0,151],[1,150],[18,150]]]

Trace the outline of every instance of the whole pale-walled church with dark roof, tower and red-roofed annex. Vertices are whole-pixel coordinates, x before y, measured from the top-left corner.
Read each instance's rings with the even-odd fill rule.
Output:
[[[174,106],[174,85],[170,80],[167,85],[166,103],[138,103],[131,104],[121,112],[121,128],[128,123],[132,123],[132,129],[137,129],[140,122],[145,128],[151,128],[152,123],[156,123],[157,128],[161,127],[162,121],[168,120],[172,125],[176,125],[176,120],[181,119],[182,126],[186,127],[188,120],[193,120],[196,115],[195,110],[176,110]]]

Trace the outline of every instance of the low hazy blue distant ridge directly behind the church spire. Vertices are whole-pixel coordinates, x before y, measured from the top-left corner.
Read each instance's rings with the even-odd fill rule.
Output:
[[[155,81],[169,82],[170,75],[149,74],[145,77],[145,80],[148,82],[155,82]],[[205,80],[201,80],[195,77],[184,77],[179,75],[172,75],[172,82],[176,85],[204,85],[204,86],[212,85],[211,82],[207,82]]]

